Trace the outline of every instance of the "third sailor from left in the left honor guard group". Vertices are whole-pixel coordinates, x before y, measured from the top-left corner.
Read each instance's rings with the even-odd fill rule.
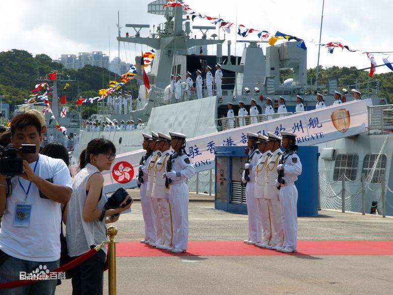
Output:
[[[171,138],[162,133],[158,133],[158,138],[161,156],[158,158],[154,165],[154,180],[153,180],[153,191],[152,198],[156,198],[159,204],[160,215],[157,220],[157,224],[162,226],[162,244],[156,245],[159,249],[169,249],[171,248],[172,241],[172,220],[171,220],[171,209],[169,205],[169,188],[165,186],[165,176],[163,174],[166,172],[166,166],[169,161],[171,154]],[[157,237],[159,239],[159,237]]]

